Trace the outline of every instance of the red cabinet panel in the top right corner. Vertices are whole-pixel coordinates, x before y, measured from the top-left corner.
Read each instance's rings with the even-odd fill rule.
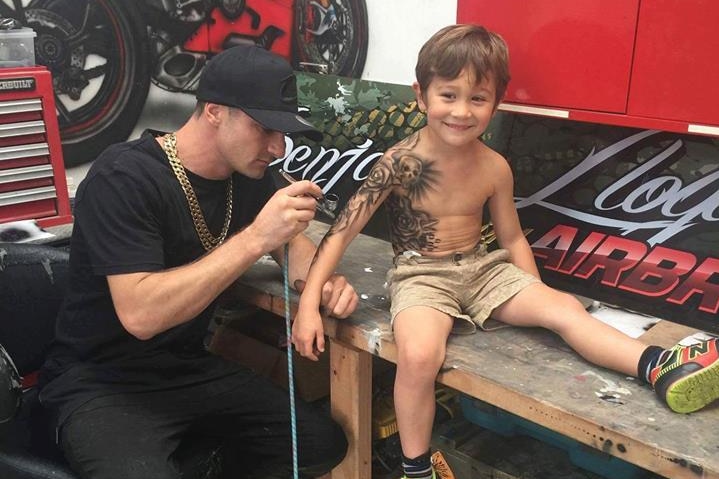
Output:
[[[719,125],[719,2],[643,0],[629,113]]]

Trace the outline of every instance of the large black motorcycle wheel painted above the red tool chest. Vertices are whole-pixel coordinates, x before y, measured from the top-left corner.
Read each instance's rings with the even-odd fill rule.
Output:
[[[32,0],[11,15],[36,32],[36,63],[52,73],[67,167],[127,139],[142,112],[150,52],[137,10],[128,0]]]

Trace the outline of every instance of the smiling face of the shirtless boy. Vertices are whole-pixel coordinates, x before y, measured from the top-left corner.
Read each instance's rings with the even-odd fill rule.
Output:
[[[431,134],[448,146],[476,140],[495,111],[494,78],[477,82],[467,69],[454,79],[435,77],[424,92],[416,84],[414,89]]]

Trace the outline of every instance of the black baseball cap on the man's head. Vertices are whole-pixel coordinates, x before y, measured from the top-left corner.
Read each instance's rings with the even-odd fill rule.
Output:
[[[287,61],[255,45],[237,45],[205,65],[198,100],[242,109],[270,130],[320,141],[322,132],[297,112],[297,82]]]

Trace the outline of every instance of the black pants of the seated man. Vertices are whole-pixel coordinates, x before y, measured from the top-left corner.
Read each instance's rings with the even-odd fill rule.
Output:
[[[292,477],[287,391],[249,370],[217,381],[94,399],[60,429],[63,452],[87,479]],[[301,477],[329,472],[344,432],[300,400],[296,417]]]

